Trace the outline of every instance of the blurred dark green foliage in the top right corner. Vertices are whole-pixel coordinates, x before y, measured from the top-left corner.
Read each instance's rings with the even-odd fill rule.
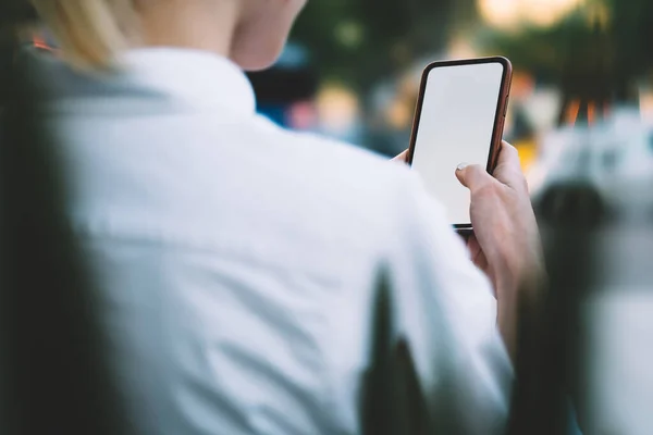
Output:
[[[590,2],[589,7],[597,5]],[[653,2],[605,0],[607,23],[592,22],[580,10],[551,28],[527,28],[515,34],[489,32],[486,47],[509,57],[516,67],[559,82],[565,75],[632,80],[653,66]]]

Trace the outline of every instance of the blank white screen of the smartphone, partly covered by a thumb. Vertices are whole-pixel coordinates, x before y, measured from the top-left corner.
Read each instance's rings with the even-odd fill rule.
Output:
[[[503,73],[498,62],[428,73],[412,167],[452,225],[470,223],[469,190],[455,171],[460,163],[488,164]]]

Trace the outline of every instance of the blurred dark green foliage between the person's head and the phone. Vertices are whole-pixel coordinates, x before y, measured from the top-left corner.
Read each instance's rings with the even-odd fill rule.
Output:
[[[473,8],[473,0],[461,3]],[[293,38],[311,50],[328,78],[365,92],[418,57],[442,50],[453,4],[454,0],[312,1]]]

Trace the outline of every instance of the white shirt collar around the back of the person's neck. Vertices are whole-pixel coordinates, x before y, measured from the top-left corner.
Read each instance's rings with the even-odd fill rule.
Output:
[[[224,105],[243,114],[256,110],[254,89],[245,73],[211,52],[141,48],[125,52],[120,63],[130,82],[153,87],[187,104]]]

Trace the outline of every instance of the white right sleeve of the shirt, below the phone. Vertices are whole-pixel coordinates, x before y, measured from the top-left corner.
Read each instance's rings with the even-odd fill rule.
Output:
[[[408,346],[436,433],[501,434],[514,373],[490,282],[421,182],[408,184],[391,244],[394,336]]]

